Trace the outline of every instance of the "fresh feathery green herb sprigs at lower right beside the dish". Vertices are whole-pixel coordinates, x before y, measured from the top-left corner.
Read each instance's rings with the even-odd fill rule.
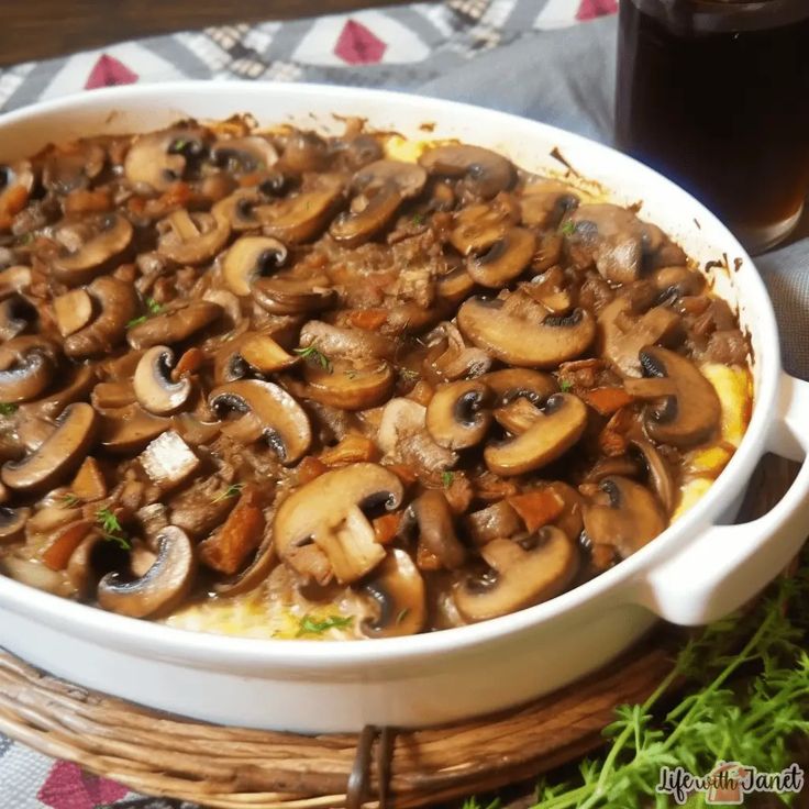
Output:
[[[809,736],[809,559],[752,610],[688,641],[668,676],[642,705],[624,705],[605,729],[605,751],[570,782],[544,779],[532,809],[668,807],[655,794],[661,768],[709,773],[720,761],[779,772],[790,744]],[[671,695],[677,685],[676,705]],[[668,708],[665,710],[664,706]],[[780,796],[785,804],[790,795]],[[688,801],[705,806],[705,795]],[[475,799],[465,809],[483,809]]]

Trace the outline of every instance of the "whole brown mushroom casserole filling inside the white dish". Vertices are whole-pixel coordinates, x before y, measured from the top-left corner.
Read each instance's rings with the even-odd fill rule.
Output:
[[[48,147],[0,167],[0,569],[187,629],[553,598],[689,508],[751,408],[658,228],[359,121]]]

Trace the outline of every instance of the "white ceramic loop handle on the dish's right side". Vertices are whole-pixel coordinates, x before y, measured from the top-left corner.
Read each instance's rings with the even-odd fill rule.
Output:
[[[783,570],[809,535],[809,383],[784,375],[767,448],[802,462],[766,514],[713,525],[683,553],[650,570],[638,600],[672,623],[710,623],[741,607]]]

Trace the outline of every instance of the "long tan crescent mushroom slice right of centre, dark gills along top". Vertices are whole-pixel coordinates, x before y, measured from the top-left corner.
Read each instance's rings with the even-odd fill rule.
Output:
[[[506,363],[525,367],[555,368],[580,356],[596,336],[596,321],[586,309],[539,322],[530,320],[530,314],[533,312],[508,311],[499,298],[475,297],[461,306],[457,321],[475,345]]]

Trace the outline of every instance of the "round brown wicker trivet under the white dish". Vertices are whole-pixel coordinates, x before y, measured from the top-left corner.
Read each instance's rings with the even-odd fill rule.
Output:
[[[532,777],[597,746],[671,642],[523,708],[445,728],[303,736],[204,724],[90,692],[0,652],[0,731],[155,797],[217,809],[420,807]]]

